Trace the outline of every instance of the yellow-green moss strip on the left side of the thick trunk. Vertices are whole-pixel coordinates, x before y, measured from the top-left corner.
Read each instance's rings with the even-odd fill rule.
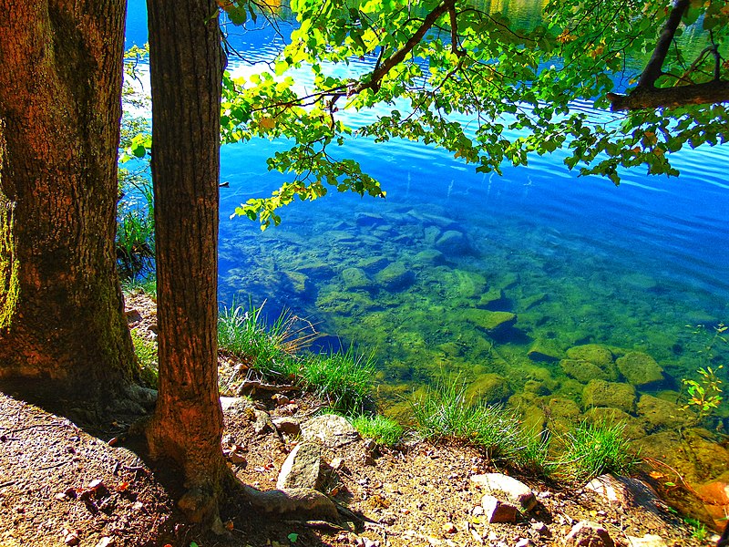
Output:
[[[20,263],[15,252],[15,203],[0,193],[0,331],[10,327],[20,287]]]

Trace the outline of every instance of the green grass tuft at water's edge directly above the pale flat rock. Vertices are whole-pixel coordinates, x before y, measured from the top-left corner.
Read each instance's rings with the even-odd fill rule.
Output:
[[[310,354],[303,359],[303,379],[319,397],[347,413],[361,413],[374,407],[373,354],[358,355],[354,346],[346,352]]]

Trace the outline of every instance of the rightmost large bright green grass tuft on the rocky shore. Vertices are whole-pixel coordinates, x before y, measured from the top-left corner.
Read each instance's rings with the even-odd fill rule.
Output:
[[[631,452],[623,435],[625,424],[607,421],[581,423],[567,434],[560,472],[586,482],[606,473],[629,474],[640,459]]]

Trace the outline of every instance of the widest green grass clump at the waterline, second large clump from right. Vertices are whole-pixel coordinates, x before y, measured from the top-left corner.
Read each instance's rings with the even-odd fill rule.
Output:
[[[519,420],[500,407],[469,404],[462,382],[428,390],[412,409],[416,427],[426,439],[466,442],[489,458],[512,458],[519,447]]]

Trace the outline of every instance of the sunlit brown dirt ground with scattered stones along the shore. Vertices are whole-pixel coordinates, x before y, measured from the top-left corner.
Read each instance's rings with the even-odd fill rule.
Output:
[[[145,328],[153,332],[153,315],[144,314]],[[231,374],[230,362],[221,366],[223,377]],[[270,392],[254,394],[254,401],[272,418],[305,417],[319,407],[306,394],[287,396],[291,402],[285,405]],[[600,522],[624,545],[631,544],[628,536],[646,534],[676,547],[710,544],[692,537],[671,511],[614,506],[590,490],[528,477],[519,479],[537,492],[537,508],[515,524],[488,524],[475,510],[482,492],[470,477],[497,469],[476,451],[426,442],[389,450],[365,439],[323,452],[323,490],[343,508],[340,521],[273,519],[232,499],[221,511],[229,532],[216,536],[182,519],[164,470],[149,467],[144,448],[127,437],[131,424],[112,416],[93,423],[84,418],[73,409],[58,416],[0,394],[0,547],[514,547],[519,541],[539,547],[562,545],[582,520]],[[223,448],[231,468],[246,484],[274,489],[295,436],[257,433],[251,413],[235,406],[225,418]]]

